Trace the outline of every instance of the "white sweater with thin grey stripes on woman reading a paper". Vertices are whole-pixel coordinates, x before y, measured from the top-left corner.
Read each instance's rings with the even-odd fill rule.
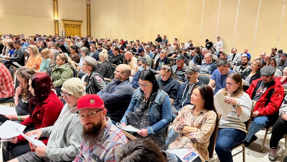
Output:
[[[222,90],[223,89],[219,90],[218,92],[222,92]],[[231,93],[227,94],[228,96],[231,95]],[[234,128],[244,131],[246,133],[247,130],[244,122],[250,118],[252,101],[249,95],[245,92],[240,98],[235,98],[235,100],[241,104],[241,107],[243,108],[242,113],[237,116],[236,108],[234,107],[226,118],[221,117],[219,122],[219,128]]]

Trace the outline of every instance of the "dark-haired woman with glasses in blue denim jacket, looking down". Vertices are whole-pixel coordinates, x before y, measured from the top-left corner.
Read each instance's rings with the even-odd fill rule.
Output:
[[[151,140],[161,150],[166,150],[166,127],[172,119],[169,96],[159,88],[156,77],[150,70],[140,72],[138,85],[140,88],[134,91],[131,103],[120,123],[123,127],[131,124],[140,130],[134,136]],[[127,115],[130,112],[141,113],[141,121],[132,123]]]

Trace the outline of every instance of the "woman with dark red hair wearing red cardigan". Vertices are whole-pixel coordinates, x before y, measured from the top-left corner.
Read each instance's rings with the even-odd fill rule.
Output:
[[[45,73],[37,73],[29,79],[30,116],[21,122],[26,127],[24,133],[33,129],[52,126],[60,115],[63,102],[58,98],[51,87],[53,85],[50,77]],[[40,141],[47,144],[48,137],[40,137]],[[31,151],[28,141],[21,135],[8,143],[6,149],[2,149],[3,161],[14,159]]]

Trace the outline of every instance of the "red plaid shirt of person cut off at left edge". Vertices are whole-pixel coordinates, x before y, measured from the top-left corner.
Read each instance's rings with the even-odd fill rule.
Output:
[[[10,71],[0,63],[0,98],[9,98],[15,95],[13,79]]]

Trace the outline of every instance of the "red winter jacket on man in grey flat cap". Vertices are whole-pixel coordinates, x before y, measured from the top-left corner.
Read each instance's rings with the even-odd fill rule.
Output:
[[[264,92],[264,94],[262,94],[261,98],[258,99],[258,101],[256,102],[256,105],[254,107],[254,111],[258,111],[259,116],[267,116],[267,115],[272,115],[272,114],[276,113],[277,111],[279,111],[279,108],[282,104],[282,101],[284,98],[284,89],[282,88],[281,82],[278,78],[274,77],[273,79],[275,81],[275,85],[272,85],[271,87],[269,87]],[[253,92],[257,91],[257,89],[255,90],[256,85],[261,80],[262,79],[259,78],[259,79],[252,81],[252,84],[250,85],[250,87],[246,91],[246,93],[249,94],[251,99],[253,97],[252,96]],[[272,89],[274,89],[274,91],[273,91],[273,94],[271,95],[270,102],[266,105],[266,107],[264,107],[266,102],[269,101],[266,98],[266,96],[269,93],[269,91]]]

